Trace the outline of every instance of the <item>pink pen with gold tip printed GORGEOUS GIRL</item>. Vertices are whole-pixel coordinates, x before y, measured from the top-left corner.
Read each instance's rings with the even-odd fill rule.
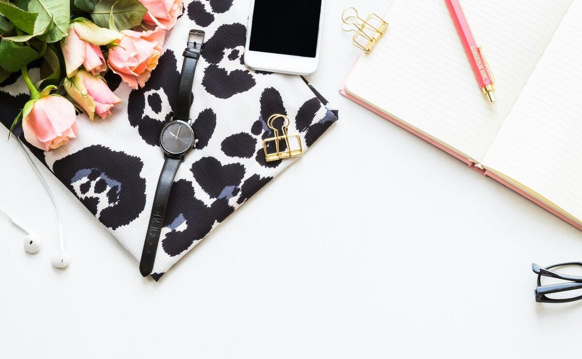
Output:
[[[463,13],[461,4],[459,0],[445,0],[446,6],[449,8],[450,16],[453,17],[453,22],[459,32],[461,42],[463,42],[463,47],[467,52],[467,57],[473,67],[475,77],[477,77],[477,83],[483,94],[487,96],[490,103],[495,103],[495,77],[491,73],[491,68],[487,60],[483,56],[483,51],[480,46],[477,46],[477,42],[471,33],[471,28],[469,23],[467,23],[467,18]]]

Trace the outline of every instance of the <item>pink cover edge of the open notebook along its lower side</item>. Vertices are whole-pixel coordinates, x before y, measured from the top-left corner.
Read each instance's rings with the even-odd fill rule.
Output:
[[[361,55],[360,55],[361,56]],[[493,178],[495,179],[495,181],[498,181],[499,183],[508,186],[510,189],[513,189],[513,191],[519,193],[520,195],[524,196],[525,198],[531,200],[531,202],[534,202],[535,204],[537,204],[538,206],[542,207],[543,209],[549,211],[550,213],[554,214],[555,216],[558,216],[560,218],[562,218],[562,220],[565,220],[566,222],[568,222],[569,224],[572,224],[574,227],[580,229],[580,231],[582,231],[582,225],[570,220],[570,218],[567,218],[566,216],[563,216],[563,214],[559,213],[558,211],[552,209],[551,207],[547,206],[545,203],[540,202],[539,200],[535,199],[533,196],[529,195],[528,193],[521,191],[520,188],[510,184],[508,181],[505,181],[505,179],[499,177],[498,175],[491,173],[490,171],[487,170],[482,170],[481,168],[475,167],[475,164],[473,163],[473,161],[467,159],[466,157],[464,157],[463,155],[460,155],[460,153],[457,153],[449,148],[446,148],[445,146],[441,145],[441,143],[438,143],[437,141],[434,141],[433,139],[421,134],[420,132],[414,130],[413,128],[403,124],[402,122],[393,119],[391,116],[389,116],[388,114],[385,114],[383,112],[381,112],[378,109],[375,109],[374,107],[368,105],[365,102],[362,102],[360,99],[355,98],[354,96],[350,95],[347,93],[346,88],[345,88],[345,81],[342,83],[342,87],[339,89],[339,93],[342,94],[343,96],[346,96],[346,98],[349,98],[350,100],[358,103],[361,106],[364,106],[365,108],[367,108],[368,110],[371,110],[374,113],[379,114],[380,116],[384,117],[385,119],[388,119],[389,121],[391,121],[392,123],[395,123],[397,125],[399,125],[400,127],[404,128],[404,130],[411,132],[414,135],[417,135],[418,137],[424,139],[424,141],[427,141],[428,143],[431,143],[434,146],[437,146],[439,149],[442,149],[443,151],[445,151],[446,153],[448,153],[449,155],[456,157],[457,159],[463,161],[464,163],[467,164],[467,166],[469,166],[469,168],[471,168],[471,170],[477,171],[478,173],[481,173],[482,175],[485,175],[487,177]]]

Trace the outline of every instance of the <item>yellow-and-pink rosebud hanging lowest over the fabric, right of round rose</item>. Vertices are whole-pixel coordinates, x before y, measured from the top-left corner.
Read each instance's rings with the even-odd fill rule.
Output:
[[[95,119],[95,114],[105,119],[111,114],[113,106],[121,102],[102,77],[93,76],[85,70],[80,69],[74,77],[66,78],[64,85],[67,94],[91,120]]]

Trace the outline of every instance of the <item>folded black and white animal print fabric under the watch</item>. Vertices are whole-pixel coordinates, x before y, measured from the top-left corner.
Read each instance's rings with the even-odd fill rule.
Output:
[[[79,135],[67,146],[51,152],[31,148],[139,261],[164,164],[158,136],[172,117],[182,51],[190,29],[206,32],[190,114],[196,149],[182,163],[172,188],[152,275],[156,280],[293,163],[265,161],[262,140],[273,135],[265,123],[272,114],[288,115],[290,133],[300,134],[307,147],[338,120],[338,113],[301,77],[244,66],[248,12],[248,0],[184,1],[184,13],[168,33],[165,52],[144,88],[132,91],[108,74],[109,85],[123,99],[111,117],[92,123],[81,115]],[[7,127],[28,99],[17,79],[15,74],[0,84],[0,113]]]

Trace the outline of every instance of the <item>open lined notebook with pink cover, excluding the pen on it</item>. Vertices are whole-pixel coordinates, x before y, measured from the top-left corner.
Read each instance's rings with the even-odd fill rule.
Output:
[[[343,95],[582,229],[582,2],[462,3],[496,77],[490,105],[443,0],[395,0]]]

